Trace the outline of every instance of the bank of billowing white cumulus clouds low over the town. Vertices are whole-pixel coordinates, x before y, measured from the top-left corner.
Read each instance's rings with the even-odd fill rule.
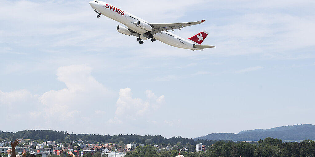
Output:
[[[115,106],[112,101],[114,93],[98,82],[91,72],[92,68],[86,64],[60,67],[57,69],[57,79],[66,88],[50,90],[41,95],[33,95],[26,89],[12,92],[0,90],[0,107],[4,111],[4,120],[23,122],[21,126],[16,126],[17,130],[73,130],[79,128],[60,123],[77,122],[92,127],[95,118],[101,118],[105,125],[125,125],[130,122],[126,119],[137,120],[152,115],[164,104],[164,95],[158,97],[151,90],[146,90],[143,100],[134,98],[131,89],[125,88],[119,90]],[[36,125],[34,121],[37,122]],[[99,133],[99,129],[103,127],[80,128],[80,132]]]

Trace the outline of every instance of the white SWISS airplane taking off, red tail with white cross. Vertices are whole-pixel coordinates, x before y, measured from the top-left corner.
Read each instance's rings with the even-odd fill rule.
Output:
[[[188,39],[181,38],[168,31],[168,30],[174,31],[175,29],[181,30],[181,28],[183,27],[195,24],[202,24],[205,20],[185,23],[154,24],[147,22],[143,19],[140,19],[135,15],[129,14],[125,10],[117,8],[106,2],[95,0],[90,1],[89,4],[98,14],[97,18],[100,18],[100,15],[105,15],[110,19],[113,19],[121,24],[124,24],[126,27],[118,25],[116,27],[116,30],[124,35],[129,36],[133,35],[138,37],[137,41],[139,41],[139,44],[144,43],[144,41],[142,40],[151,39],[152,42],[158,40],[170,46],[175,46],[183,49],[190,49],[193,51],[215,47],[201,45],[201,43],[209,35],[209,33],[206,31],[202,31]]]

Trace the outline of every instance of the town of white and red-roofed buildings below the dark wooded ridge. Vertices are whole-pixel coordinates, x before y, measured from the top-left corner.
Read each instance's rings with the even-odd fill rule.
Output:
[[[29,140],[19,138],[19,145],[15,148],[16,154],[21,154],[26,151],[29,154],[35,154],[36,157],[47,157],[47,156],[66,156],[68,151],[71,151],[77,157],[123,157],[127,152],[137,149],[138,146],[143,147],[142,143],[129,143],[124,144],[123,141],[118,143],[86,143],[82,139],[72,141],[70,143],[58,143],[56,141],[41,141],[41,140]],[[189,151],[189,146],[180,147],[180,142],[176,145],[153,145],[156,147],[158,152],[161,150],[172,150],[178,149],[180,151]],[[165,147],[163,147],[163,145]],[[11,149],[10,141],[0,141],[0,153],[2,157],[9,157]],[[198,143],[193,151],[205,151],[206,147],[202,143]]]

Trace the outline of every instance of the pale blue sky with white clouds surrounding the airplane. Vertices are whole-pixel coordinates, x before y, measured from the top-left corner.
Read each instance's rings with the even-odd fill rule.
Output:
[[[314,124],[314,1],[107,3],[152,23],[206,19],[175,34],[206,30],[217,47],[139,45],[88,1],[1,0],[2,130],[195,138]]]

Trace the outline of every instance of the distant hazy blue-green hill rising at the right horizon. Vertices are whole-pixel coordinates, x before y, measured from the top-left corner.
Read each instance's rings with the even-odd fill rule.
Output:
[[[206,136],[194,138],[194,140],[232,140],[232,141],[244,141],[265,139],[267,137],[278,138],[285,140],[315,140],[315,126],[311,124],[275,127],[271,129],[255,129],[248,131],[241,131],[235,133],[211,133]]]

